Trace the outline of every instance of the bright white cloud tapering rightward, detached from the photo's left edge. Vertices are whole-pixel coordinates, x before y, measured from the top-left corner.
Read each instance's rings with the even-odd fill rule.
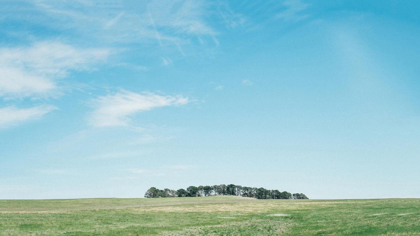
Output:
[[[129,116],[155,107],[176,106],[188,103],[183,96],[161,96],[155,93],[133,93],[120,90],[114,94],[100,96],[92,101],[95,110],[88,117],[89,123],[97,127],[127,126]]]

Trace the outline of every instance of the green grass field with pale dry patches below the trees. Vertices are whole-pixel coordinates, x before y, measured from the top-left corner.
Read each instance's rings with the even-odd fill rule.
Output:
[[[0,236],[420,236],[420,199],[0,200]]]

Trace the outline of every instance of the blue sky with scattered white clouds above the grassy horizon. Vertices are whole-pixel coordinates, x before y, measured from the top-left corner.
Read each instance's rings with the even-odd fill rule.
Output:
[[[420,197],[416,1],[3,1],[0,199]]]

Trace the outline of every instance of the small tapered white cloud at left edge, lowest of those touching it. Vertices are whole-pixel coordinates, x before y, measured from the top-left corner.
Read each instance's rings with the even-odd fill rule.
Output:
[[[0,127],[9,127],[21,122],[39,119],[55,109],[57,109],[55,106],[50,105],[39,105],[30,108],[6,106],[0,108]]]

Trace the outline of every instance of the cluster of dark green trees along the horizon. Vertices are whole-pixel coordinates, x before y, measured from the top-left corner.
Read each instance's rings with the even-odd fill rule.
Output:
[[[242,197],[254,197],[257,199],[308,199],[303,193],[280,192],[265,188],[242,187],[235,184],[220,184],[213,186],[190,186],[186,189],[157,189],[151,187],[144,197],[205,197],[215,195],[234,195]]]

